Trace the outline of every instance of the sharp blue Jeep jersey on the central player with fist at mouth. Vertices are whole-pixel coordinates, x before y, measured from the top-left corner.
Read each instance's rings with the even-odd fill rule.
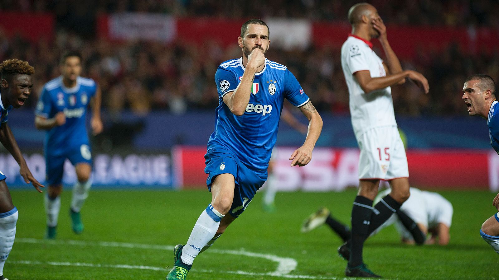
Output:
[[[236,90],[244,71],[243,58],[228,60],[217,69],[219,106],[208,150],[214,145],[223,145],[250,169],[264,173],[277,137],[284,98],[297,107],[310,99],[286,66],[265,59],[263,70],[255,74],[246,112],[236,116],[223,97]]]

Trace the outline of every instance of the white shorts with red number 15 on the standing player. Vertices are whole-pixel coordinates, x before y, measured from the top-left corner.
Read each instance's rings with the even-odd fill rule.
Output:
[[[381,127],[368,130],[357,137],[360,148],[359,179],[409,177],[404,143],[397,127]]]

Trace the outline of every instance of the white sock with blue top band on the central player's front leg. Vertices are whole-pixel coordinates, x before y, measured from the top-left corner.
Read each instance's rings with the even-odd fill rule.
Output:
[[[201,249],[205,247],[217,233],[220,220],[222,220],[223,217],[224,215],[215,210],[211,204],[201,213],[192,229],[187,244],[182,248],[181,259],[184,264],[192,265],[194,258],[198,256]]]

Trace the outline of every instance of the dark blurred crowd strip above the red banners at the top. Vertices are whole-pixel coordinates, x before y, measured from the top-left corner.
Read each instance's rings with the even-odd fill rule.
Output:
[[[0,9],[51,11],[58,22],[74,27],[100,12],[163,12],[176,16],[264,18],[279,16],[313,20],[344,20],[359,0],[2,0]],[[497,0],[371,0],[385,22],[398,24],[445,24],[499,26]],[[87,22],[88,23],[88,22]],[[79,25],[79,26],[76,26]]]

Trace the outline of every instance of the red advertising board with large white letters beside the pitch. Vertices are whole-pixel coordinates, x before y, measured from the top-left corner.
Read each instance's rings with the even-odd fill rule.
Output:
[[[340,191],[358,186],[359,150],[315,148],[306,166],[290,166],[294,148],[278,147],[275,174],[280,191]],[[206,147],[177,146],[173,153],[178,187],[205,188]],[[499,155],[489,150],[409,150],[409,181],[423,189],[499,190]]]

